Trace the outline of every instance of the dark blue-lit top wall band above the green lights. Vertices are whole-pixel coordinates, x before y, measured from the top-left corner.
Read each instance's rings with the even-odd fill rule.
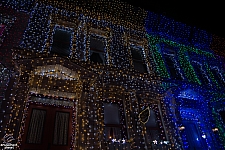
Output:
[[[208,49],[212,41],[212,35],[204,30],[153,12],[148,12],[145,27],[148,34],[198,49]]]

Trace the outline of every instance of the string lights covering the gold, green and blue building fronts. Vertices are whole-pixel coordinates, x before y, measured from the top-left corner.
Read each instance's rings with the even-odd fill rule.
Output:
[[[157,140],[149,141],[146,138],[147,129],[138,118],[140,106],[150,105],[155,100],[157,104],[154,104],[154,111],[158,115],[156,120],[160,128],[160,141],[169,140],[167,144],[170,147],[187,149],[187,128],[179,130],[184,127],[179,121],[196,121],[206,145],[223,148],[223,145],[215,144],[217,140],[223,143],[225,141],[222,119],[218,114],[221,108],[214,110],[210,106],[211,103],[223,104],[219,102],[221,97],[217,97],[222,88],[210,68],[212,62],[218,65],[223,60],[220,58],[215,61],[217,56],[210,48],[214,50],[219,46],[215,44],[217,39],[212,38],[212,35],[116,0],[3,0],[2,4],[30,15],[20,48],[14,48],[13,51],[15,70],[20,75],[16,75],[12,87],[10,121],[2,132],[18,133],[14,127],[21,121],[19,118],[22,118],[22,124],[26,120],[29,103],[33,103],[29,95],[31,92],[57,99],[54,103],[36,100],[39,104],[63,105],[59,102],[62,100],[68,103],[67,107],[72,107],[72,148],[100,149],[107,144],[127,144],[123,149],[144,149],[157,143]],[[14,24],[16,27],[17,25],[18,23]],[[51,53],[53,35],[57,29],[72,33],[71,53],[66,58]],[[3,36],[7,35],[6,31],[8,32],[4,30]],[[90,36],[104,40],[104,57],[107,60],[105,65],[90,61]],[[170,79],[171,74],[164,61],[163,45],[177,50],[174,62],[183,80]],[[132,66],[129,52],[131,46],[141,47],[143,62],[149,67],[148,73],[140,74]],[[207,87],[195,73],[193,53],[201,56],[198,61],[204,66],[211,83]],[[154,69],[156,76],[153,75]],[[222,74],[224,75],[224,70]],[[218,91],[213,89],[213,85],[216,85]],[[193,96],[186,89],[192,89],[198,94]],[[16,93],[18,90],[20,92]],[[137,98],[137,92],[142,92],[140,99]],[[58,100],[59,97],[62,99]],[[117,103],[120,106],[120,111],[125,116],[122,122],[127,129],[121,131],[126,134],[125,139],[104,141],[103,102]],[[76,105],[72,106],[73,104]],[[191,110],[185,107],[190,107]],[[178,116],[176,111],[179,111]],[[21,125],[19,144],[24,128]],[[212,129],[215,128],[218,132],[216,140],[211,137],[215,133]]]

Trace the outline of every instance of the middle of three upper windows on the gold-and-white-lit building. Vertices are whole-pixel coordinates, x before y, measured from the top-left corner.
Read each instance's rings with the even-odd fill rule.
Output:
[[[105,64],[105,45],[102,39],[91,37],[90,60],[95,64]]]

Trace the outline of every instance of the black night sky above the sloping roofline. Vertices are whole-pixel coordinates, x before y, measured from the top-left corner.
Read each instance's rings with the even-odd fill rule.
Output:
[[[225,8],[222,2],[184,0],[122,0],[158,14],[163,14],[176,21],[195,26],[225,38]]]

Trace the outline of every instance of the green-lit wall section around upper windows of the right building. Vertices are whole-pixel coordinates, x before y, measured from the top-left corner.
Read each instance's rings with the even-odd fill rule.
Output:
[[[178,47],[179,51],[177,52],[178,54],[178,61],[181,65],[181,69],[183,70],[183,72],[185,73],[185,77],[187,78],[187,80],[189,82],[195,82],[201,85],[200,80],[198,79],[193,66],[190,63],[190,59],[187,55],[187,52],[194,52],[198,55],[204,55],[205,57],[211,57],[211,58],[215,58],[214,55],[212,53],[209,53],[207,51],[203,51],[197,48],[193,48],[190,46],[186,46],[183,44],[179,44],[177,42],[168,40],[168,39],[164,39],[164,38],[159,38],[158,36],[152,36],[147,34],[147,38],[150,44],[150,50],[153,53],[153,59],[155,61],[155,65],[156,65],[156,72],[164,78],[170,78],[170,75],[167,71],[166,65],[163,61],[163,56],[160,53],[160,44],[165,43],[168,44],[172,47]],[[204,65],[207,66],[207,63],[205,62]],[[210,72],[210,70],[207,69],[207,72]],[[213,75],[212,73],[209,73],[210,77],[212,79]],[[216,82],[216,81],[215,81]]]

